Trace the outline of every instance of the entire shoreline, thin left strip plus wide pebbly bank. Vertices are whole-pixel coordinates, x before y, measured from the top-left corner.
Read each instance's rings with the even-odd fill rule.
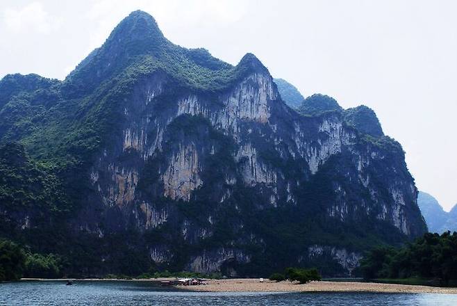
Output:
[[[40,282],[151,282],[160,285],[161,281],[175,280],[174,277],[153,279],[100,279],[100,278],[22,278],[20,281]],[[370,293],[451,293],[457,294],[456,287],[430,287],[410,284],[386,284],[379,282],[332,282],[320,281],[308,284],[297,284],[288,281],[274,282],[265,279],[260,282],[258,278],[238,278],[227,280],[206,280],[205,284],[196,286],[169,286],[170,289],[178,289],[192,292],[370,292]]]

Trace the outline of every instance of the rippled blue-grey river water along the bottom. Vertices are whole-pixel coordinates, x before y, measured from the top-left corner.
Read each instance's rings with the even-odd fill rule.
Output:
[[[0,284],[0,305],[457,305],[457,295],[431,293],[194,293],[148,282],[76,281]]]

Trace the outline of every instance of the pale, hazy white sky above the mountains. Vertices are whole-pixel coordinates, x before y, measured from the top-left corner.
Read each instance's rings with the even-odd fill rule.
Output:
[[[138,9],[177,45],[251,52],[304,96],[373,108],[417,188],[457,203],[457,1],[1,0],[0,78],[65,79]]]

